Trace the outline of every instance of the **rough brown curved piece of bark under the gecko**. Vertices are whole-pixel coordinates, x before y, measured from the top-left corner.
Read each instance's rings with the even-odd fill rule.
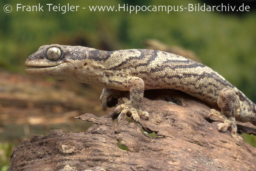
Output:
[[[173,90],[148,90],[142,110],[150,118],[139,124],[113,122],[84,114],[77,118],[94,122],[88,132],[52,130],[34,135],[11,152],[9,171],[159,171],[256,169],[256,149],[237,143],[228,131],[217,130],[218,121],[208,118],[210,107],[198,99]],[[108,114],[112,118],[112,112]],[[144,133],[155,132],[153,138]],[[239,131],[254,133],[251,124]],[[241,136],[241,135],[240,135]],[[117,141],[129,151],[118,147]]]

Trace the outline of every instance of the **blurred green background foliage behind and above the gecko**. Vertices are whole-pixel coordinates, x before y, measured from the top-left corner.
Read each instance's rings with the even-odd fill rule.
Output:
[[[241,2],[230,5],[242,5]],[[255,2],[255,1],[251,1]],[[44,6],[44,12],[16,11],[16,4]],[[48,12],[48,6],[79,5],[76,12]],[[57,1],[9,1],[0,2],[0,71],[24,73],[24,61],[44,44],[82,45],[102,50],[144,48],[142,42],[148,38],[165,44],[177,45],[192,50],[202,63],[219,72],[256,102],[256,11],[249,3],[249,12],[92,12],[89,5],[213,5],[211,1],[167,1],[167,0],[57,0]],[[215,2],[216,3],[216,2]],[[248,3],[248,2],[247,2]],[[12,6],[10,13],[3,7]],[[245,3],[246,5],[246,3]],[[86,9],[82,9],[86,7]],[[1,123],[0,123],[1,124]],[[28,137],[29,138],[29,137]],[[254,138],[252,141],[255,144]],[[0,141],[1,156],[10,155],[10,141]],[[254,142],[253,142],[254,141]],[[3,164],[4,163],[4,164]],[[6,170],[8,161],[0,163]]]

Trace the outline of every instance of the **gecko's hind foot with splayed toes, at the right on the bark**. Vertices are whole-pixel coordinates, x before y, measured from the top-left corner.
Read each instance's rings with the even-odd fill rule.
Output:
[[[227,118],[225,115],[221,114],[219,111],[215,109],[211,109],[211,113],[209,114],[209,117],[211,120],[223,122],[217,125],[219,131],[225,132],[228,129],[228,127],[231,127],[232,137],[240,143],[243,141],[242,137],[236,134],[237,127],[236,127],[235,118],[233,117]]]

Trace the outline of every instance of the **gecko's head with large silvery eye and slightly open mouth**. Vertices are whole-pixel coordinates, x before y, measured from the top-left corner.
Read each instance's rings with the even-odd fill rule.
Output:
[[[82,52],[82,53],[81,53]],[[64,46],[59,44],[44,45],[25,61],[27,75],[36,75],[54,79],[70,79],[86,63],[85,47]],[[76,62],[75,62],[76,61]]]

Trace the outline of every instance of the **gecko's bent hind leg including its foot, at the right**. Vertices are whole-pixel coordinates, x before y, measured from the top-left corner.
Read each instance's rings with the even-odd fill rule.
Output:
[[[221,121],[223,123],[218,124],[218,130],[225,132],[228,127],[231,127],[231,135],[236,141],[242,142],[242,137],[236,134],[236,109],[239,107],[239,100],[233,90],[224,88],[220,91],[217,103],[221,111],[211,109],[209,114],[210,119],[214,121]]]

